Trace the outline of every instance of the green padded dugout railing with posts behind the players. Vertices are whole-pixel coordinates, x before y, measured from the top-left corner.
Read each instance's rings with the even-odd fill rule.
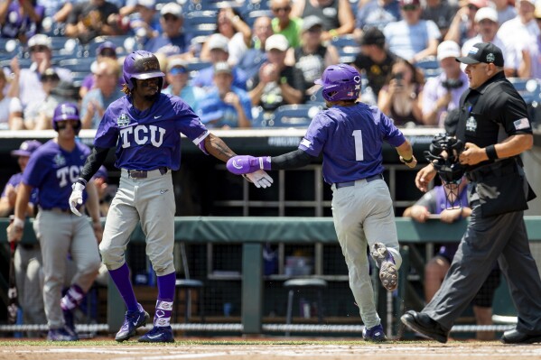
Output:
[[[541,217],[525,217],[527,233],[532,246],[541,242]],[[431,246],[434,243],[452,243],[462,237],[467,220],[448,225],[440,221],[428,221],[424,224],[415,223],[409,218],[396,218],[396,227],[399,241],[402,246],[404,263],[401,268],[400,286],[395,293],[379,291],[379,314],[387,326],[387,333],[395,337],[398,333],[399,315],[404,312],[404,299],[407,297],[408,274],[410,268],[410,252],[415,246]],[[33,244],[36,239],[32,229],[32,220],[27,221],[23,243]],[[7,219],[0,219],[0,242],[5,246],[5,227]],[[329,245],[337,244],[334,226],[330,217],[177,217],[175,219],[176,242],[231,244],[240,243],[241,246],[241,317],[238,323],[188,323],[173,324],[173,328],[182,331],[202,332],[229,332],[245,335],[262,333],[284,333],[287,331],[297,333],[358,333],[361,325],[334,325],[334,324],[270,324],[263,321],[264,293],[264,259],[263,247],[266,243],[284,243],[294,245]],[[135,229],[131,237],[131,244],[142,244],[145,235],[140,227]],[[536,256],[537,263],[541,259]],[[4,254],[7,254],[4,252]],[[415,256],[414,256],[415,258]],[[7,262],[8,259],[3,259]],[[378,282],[376,282],[378,283]],[[111,285],[109,283],[109,285]],[[0,292],[2,300],[6,300],[7,283],[5,278],[0,279]],[[507,304],[512,307],[512,304]],[[114,286],[107,287],[107,324],[94,324],[78,326],[80,329],[91,328],[94,331],[115,331],[120,327],[124,317],[124,304]],[[354,316],[359,316],[358,314]],[[359,318],[359,324],[361,323]],[[482,329],[503,330],[512,325],[497,325],[479,327],[474,325],[455,326],[452,331],[478,331]],[[14,331],[22,329],[45,329],[46,326],[8,326],[0,325],[0,331]]]

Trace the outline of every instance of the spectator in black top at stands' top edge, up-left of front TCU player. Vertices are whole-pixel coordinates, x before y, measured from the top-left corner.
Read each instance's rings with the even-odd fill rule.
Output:
[[[87,43],[100,35],[117,35],[118,7],[107,0],[88,0],[73,5],[66,36]]]

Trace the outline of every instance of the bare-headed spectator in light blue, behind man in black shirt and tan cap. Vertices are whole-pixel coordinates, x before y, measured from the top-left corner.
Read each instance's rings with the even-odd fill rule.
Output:
[[[266,39],[273,34],[271,19],[267,16],[258,17],[254,22],[253,32],[252,46],[242,55],[237,64],[239,69],[246,72],[248,81],[256,76],[261,65],[267,60],[265,43]]]

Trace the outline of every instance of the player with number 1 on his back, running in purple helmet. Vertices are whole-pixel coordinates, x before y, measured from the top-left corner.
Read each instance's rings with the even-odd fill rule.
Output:
[[[408,167],[414,168],[416,160],[410,143],[391,119],[377,107],[357,102],[360,76],[356,69],[331,65],[315,83],[322,85],[329,108],[315,115],[299,148],[275,157],[236,156],[229,160],[228,170],[246,174],[260,169],[293,169],[316,161],[323,153],[322,172],[331,184],[334,226],[365,325],[362,336],[368,341],[384,341],[387,337],[368,273],[367,245],[389,291],[396,289],[402,258],[393,203],[382,176],[383,143],[394,146]]]

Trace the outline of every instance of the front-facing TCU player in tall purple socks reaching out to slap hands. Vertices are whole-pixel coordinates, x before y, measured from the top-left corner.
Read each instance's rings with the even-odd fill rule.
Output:
[[[164,74],[152,52],[135,51],[124,61],[125,97],[107,107],[98,126],[94,148],[73,184],[70,206],[81,200],[87,181],[105,161],[108,149],[116,147],[121,169],[117,195],[107,213],[103,241],[99,245],[102,261],[126,303],[126,318],[117,341],[135,336],[145,326],[148,313],[135,299],[125,262],[125,250],[138,222],[146,235],[146,254],[157,275],[158,299],[154,327],[141,342],[173,342],[170,325],[175,288],[173,236],[175,202],[171,171],[181,162],[181,133],[201,151],[227,162],[235,156],[229,147],[201,124],[180,97],[161,93]],[[265,171],[248,176],[257,188],[271,185]],[[74,208],[75,211],[77,211]]]

